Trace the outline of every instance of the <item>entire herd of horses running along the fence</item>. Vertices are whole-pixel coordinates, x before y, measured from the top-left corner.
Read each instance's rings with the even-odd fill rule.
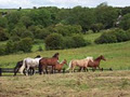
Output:
[[[22,74],[31,75],[35,73],[35,69],[38,68],[39,74],[49,73],[49,69],[51,68],[51,73],[55,73],[55,71],[61,72],[63,66],[66,65],[68,68],[66,71],[75,71],[76,67],[79,67],[79,71],[82,69],[86,71],[88,67],[92,68],[94,71],[96,68],[100,68],[100,61],[106,60],[103,55],[93,59],[93,57],[87,57],[84,59],[73,59],[67,65],[67,60],[64,59],[62,63],[58,61],[60,53],[55,53],[52,57],[41,57],[38,55],[35,58],[25,58],[21,61],[17,61],[14,68],[14,75],[20,71]]]

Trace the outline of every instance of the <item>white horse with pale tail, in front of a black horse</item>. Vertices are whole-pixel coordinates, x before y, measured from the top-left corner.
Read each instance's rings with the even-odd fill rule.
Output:
[[[23,74],[23,71],[25,69],[25,71],[26,71],[25,73],[27,75],[28,74],[27,72],[28,72],[29,68],[37,68],[39,66],[39,60],[40,59],[41,59],[41,57],[38,57],[38,58],[30,58],[30,57],[25,58],[23,60],[22,67],[20,68],[20,72]]]

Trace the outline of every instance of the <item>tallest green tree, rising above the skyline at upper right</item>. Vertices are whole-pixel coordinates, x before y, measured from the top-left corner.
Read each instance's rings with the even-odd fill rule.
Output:
[[[95,9],[95,14],[98,23],[102,23],[107,29],[114,26],[118,17],[118,10],[107,5],[99,5]]]

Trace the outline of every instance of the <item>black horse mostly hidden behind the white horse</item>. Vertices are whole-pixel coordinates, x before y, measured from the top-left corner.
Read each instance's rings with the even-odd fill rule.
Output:
[[[14,77],[16,75],[16,73],[18,72],[20,68],[22,67],[23,65],[23,60],[20,60],[16,63],[16,66],[14,67]],[[29,72],[28,74],[34,74],[35,72],[35,69],[34,68],[29,68]],[[23,71],[23,73],[25,74],[25,70]]]

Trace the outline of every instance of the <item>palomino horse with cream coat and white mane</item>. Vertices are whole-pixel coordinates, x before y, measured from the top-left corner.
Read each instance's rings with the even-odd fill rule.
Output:
[[[67,70],[72,70],[74,72],[76,66],[78,66],[79,68],[86,68],[87,69],[89,61],[93,61],[93,57],[87,57],[84,59],[70,60],[69,67],[68,67]]]

